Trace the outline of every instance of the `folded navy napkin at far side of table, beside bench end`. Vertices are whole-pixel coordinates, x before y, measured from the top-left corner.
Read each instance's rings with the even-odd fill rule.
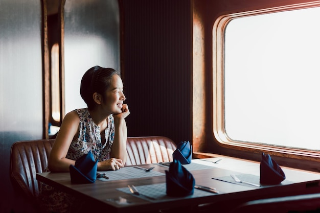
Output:
[[[172,153],[173,159],[180,161],[181,164],[190,164],[192,159],[192,146],[189,141],[181,141],[177,149]]]

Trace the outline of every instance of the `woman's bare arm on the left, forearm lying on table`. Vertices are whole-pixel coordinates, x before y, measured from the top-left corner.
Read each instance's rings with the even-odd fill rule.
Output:
[[[75,160],[67,159],[66,154],[74,136],[78,134],[79,124],[77,112],[72,111],[65,115],[48,159],[50,171],[68,172],[70,165],[75,164]]]

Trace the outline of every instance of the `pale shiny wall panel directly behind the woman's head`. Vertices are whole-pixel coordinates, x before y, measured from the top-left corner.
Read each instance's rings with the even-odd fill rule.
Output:
[[[80,6],[79,6],[80,4]],[[120,71],[118,1],[66,1],[64,7],[65,113],[86,107],[80,82],[90,67]]]

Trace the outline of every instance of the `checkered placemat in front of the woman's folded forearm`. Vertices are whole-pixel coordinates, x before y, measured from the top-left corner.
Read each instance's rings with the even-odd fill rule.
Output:
[[[140,169],[136,169],[134,167],[124,167],[120,170],[116,171],[98,171],[100,174],[106,173],[109,179],[105,178],[97,178],[97,180],[101,181],[111,181],[111,180],[124,180],[124,179],[132,179],[132,178],[143,178],[143,177],[154,177],[154,176],[162,176],[165,173],[157,172],[151,170],[150,172],[146,172]]]

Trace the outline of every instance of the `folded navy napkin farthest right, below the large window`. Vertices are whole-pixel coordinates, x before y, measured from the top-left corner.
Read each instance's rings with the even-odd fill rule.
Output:
[[[276,185],[281,183],[286,176],[279,164],[270,155],[262,153],[260,162],[260,183],[264,185]]]

